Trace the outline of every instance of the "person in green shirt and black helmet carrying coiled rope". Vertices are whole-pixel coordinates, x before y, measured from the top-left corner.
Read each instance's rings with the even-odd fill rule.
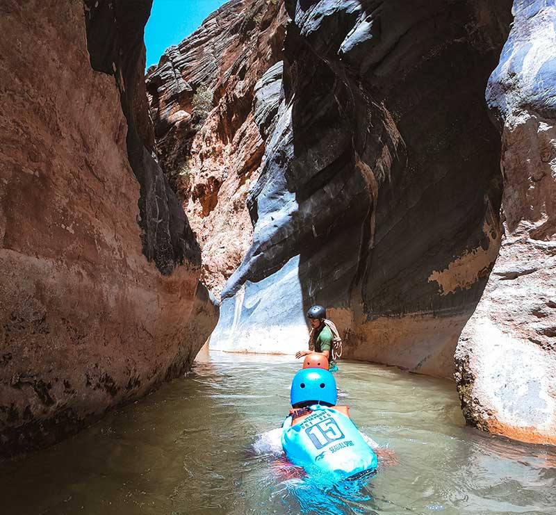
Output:
[[[309,308],[307,318],[309,318],[309,323],[311,324],[309,350],[300,350],[295,353],[295,357],[302,358],[307,354],[311,354],[311,352],[319,352],[328,359],[328,370],[336,372],[338,365],[336,365],[334,357],[341,356],[341,338],[338,335],[336,326],[330,320],[326,320],[326,309],[322,306],[312,306]],[[333,334],[333,331],[335,334]]]

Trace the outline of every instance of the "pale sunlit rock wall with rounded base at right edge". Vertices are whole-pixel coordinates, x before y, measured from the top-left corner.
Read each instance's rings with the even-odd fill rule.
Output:
[[[505,236],[457,347],[468,423],[556,444],[556,6],[515,1],[486,101],[502,134]]]

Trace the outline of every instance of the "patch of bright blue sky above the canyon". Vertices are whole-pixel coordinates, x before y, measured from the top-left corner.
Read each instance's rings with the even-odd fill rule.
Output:
[[[178,44],[190,35],[202,21],[227,0],[154,0],[151,16],[145,26],[147,68],[171,44]]]

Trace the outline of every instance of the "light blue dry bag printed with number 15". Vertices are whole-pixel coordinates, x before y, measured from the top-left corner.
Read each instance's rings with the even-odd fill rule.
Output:
[[[311,406],[313,412],[291,425],[282,425],[282,447],[288,459],[311,477],[337,482],[377,468],[377,456],[352,420],[333,407]]]

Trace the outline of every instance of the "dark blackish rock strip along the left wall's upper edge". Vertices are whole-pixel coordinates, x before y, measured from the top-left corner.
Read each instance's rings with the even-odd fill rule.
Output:
[[[151,1],[84,0],[90,63],[113,75],[127,121],[126,147],[140,184],[138,223],[143,253],[165,275],[184,259],[200,265],[201,252],[178,199],[152,156],[154,131],[149,120],[143,31]]]

